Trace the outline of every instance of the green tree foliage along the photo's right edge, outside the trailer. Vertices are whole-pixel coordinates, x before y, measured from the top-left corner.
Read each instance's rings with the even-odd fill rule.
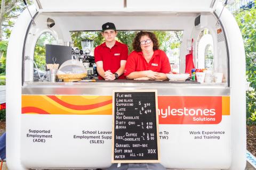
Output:
[[[238,11],[235,18],[244,39],[247,81],[253,89],[246,92],[247,123],[256,124],[256,8]]]

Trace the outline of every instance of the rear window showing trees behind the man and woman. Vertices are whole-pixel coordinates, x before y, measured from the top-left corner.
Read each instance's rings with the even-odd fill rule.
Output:
[[[133,51],[132,42],[137,32],[139,31],[118,31],[116,40],[128,46],[129,54]],[[172,71],[180,72],[180,47],[182,43],[183,31],[154,30],[152,32],[155,33],[158,39],[159,48],[163,50],[169,58]],[[90,55],[93,55],[93,50],[95,47],[99,46],[105,41],[101,36],[100,31],[71,31],[70,34],[72,41],[74,42],[74,47],[78,49],[86,50],[81,46],[82,40],[93,40],[93,49],[92,52],[90,52]]]

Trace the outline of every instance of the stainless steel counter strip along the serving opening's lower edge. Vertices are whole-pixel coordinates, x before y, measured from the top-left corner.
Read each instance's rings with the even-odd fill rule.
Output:
[[[156,89],[161,96],[229,96],[226,83],[158,82],[115,80],[96,82],[25,82],[22,95],[100,95],[111,96],[113,90]]]

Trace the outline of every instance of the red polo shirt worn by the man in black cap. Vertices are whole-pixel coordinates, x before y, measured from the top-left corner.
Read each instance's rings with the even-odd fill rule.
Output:
[[[103,70],[110,70],[111,73],[115,73],[120,68],[121,60],[127,60],[128,47],[116,41],[115,45],[110,49],[103,43],[94,49],[95,63],[98,61],[103,62]],[[99,79],[103,79],[99,75]],[[122,74],[118,79],[125,79]]]

